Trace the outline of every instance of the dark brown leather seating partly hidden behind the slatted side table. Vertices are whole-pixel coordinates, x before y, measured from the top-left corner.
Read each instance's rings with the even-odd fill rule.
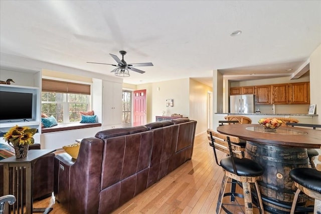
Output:
[[[30,149],[40,149],[40,144],[29,145]],[[54,153],[37,160],[34,165],[34,200],[51,196],[54,191]],[[24,181],[25,182],[25,181]],[[24,185],[25,187],[26,185]],[[4,195],[4,165],[0,164],[0,196]],[[25,191],[24,191],[25,192]],[[25,197],[23,197],[25,200]]]

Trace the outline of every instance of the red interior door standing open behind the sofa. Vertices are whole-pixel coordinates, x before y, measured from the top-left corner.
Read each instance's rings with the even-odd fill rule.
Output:
[[[146,89],[133,92],[133,126],[145,125],[147,123],[146,115]]]

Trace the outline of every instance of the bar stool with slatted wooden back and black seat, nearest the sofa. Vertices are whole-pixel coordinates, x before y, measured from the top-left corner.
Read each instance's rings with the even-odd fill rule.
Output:
[[[211,139],[211,142],[209,144],[213,147],[216,164],[221,166],[224,170],[216,213],[220,213],[221,209],[227,213],[232,213],[225,207],[225,205],[231,204],[223,204],[223,198],[231,195],[244,198],[245,213],[253,213],[254,203],[252,202],[251,183],[255,184],[255,194],[258,202],[256,207],[259,208],[260,213],[264,213],[261,193],[257,183],[258,177],[263,174],[263,167],[251,159],[242,158],[241,148],[237,145],[239,142],[238,137],[220,134],[211,129],[208,129],[207,133],[210,135],[209,139]],[[222,158],[219,163],[216,149],[228,153],[229,156]],[[237,180],[242,184],[243,195],[237,192],[224,193],[228,178]]]

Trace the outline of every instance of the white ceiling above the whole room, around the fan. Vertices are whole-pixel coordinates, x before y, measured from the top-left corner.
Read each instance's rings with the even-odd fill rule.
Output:
[[[0,9],[1,53],[113,75],[86,62],[115,64],[109,54],[125,50],[127,63],[154,64],[124,78],[131,84],[211,85],[215,69],[239,80],[290,76],[321,44],[321,1],[0,1]]]

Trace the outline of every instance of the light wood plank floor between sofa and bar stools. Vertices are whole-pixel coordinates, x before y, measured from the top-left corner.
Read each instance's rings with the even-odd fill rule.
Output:
[[[218,151],[219,157],[225,156]],[[192,160],[153,184],[113,213],[216,213],[223,170],[215,163],[206,133],[195,137]],[[49,197],[34,207],[53,207],[51,214],[68,213]],[[221,213],[223,213],[222,211]],[[238,208],[233,213],[243,213]]]

